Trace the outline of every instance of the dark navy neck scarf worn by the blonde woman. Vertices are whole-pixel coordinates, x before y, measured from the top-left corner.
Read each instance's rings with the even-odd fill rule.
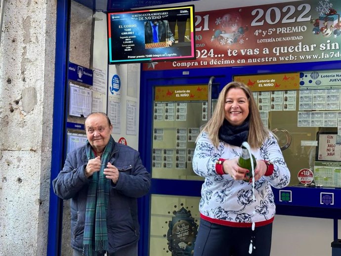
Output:
[[[222,126],[219,128],[218,137],[227,144],[241,147],[244,141],[248,141],[249,135],[249,118],[240,126],[231,126],[231,124],[224,119]]]

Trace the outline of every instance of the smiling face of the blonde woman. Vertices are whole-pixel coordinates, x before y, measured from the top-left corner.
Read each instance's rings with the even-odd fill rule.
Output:
[[[249,116],[249,100],[241,88],[230,88],[225,96],[225,119],[232,126],[240,126]]]

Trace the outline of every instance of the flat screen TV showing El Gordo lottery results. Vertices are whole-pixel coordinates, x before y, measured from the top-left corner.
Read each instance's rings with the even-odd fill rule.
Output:
[[[109,64],[195,59],[194,5],[107,14]]]

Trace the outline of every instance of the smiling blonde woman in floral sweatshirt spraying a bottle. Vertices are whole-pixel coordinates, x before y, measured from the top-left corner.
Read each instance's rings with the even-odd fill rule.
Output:
[[[256,157],[254,189],[244,181],[249,170],[237,164],[244,141]],[[195,173],[205,177],[194,256],[270,256],[271,186],[287,186],[290,171],[248,86],[231,82],[221,90],[213,117],[197,138],[192,163]]]

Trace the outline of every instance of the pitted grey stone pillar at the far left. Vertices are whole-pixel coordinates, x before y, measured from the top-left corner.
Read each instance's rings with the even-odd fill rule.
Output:
[[[0,255],[46,255],[56,1],[4,1]]]

